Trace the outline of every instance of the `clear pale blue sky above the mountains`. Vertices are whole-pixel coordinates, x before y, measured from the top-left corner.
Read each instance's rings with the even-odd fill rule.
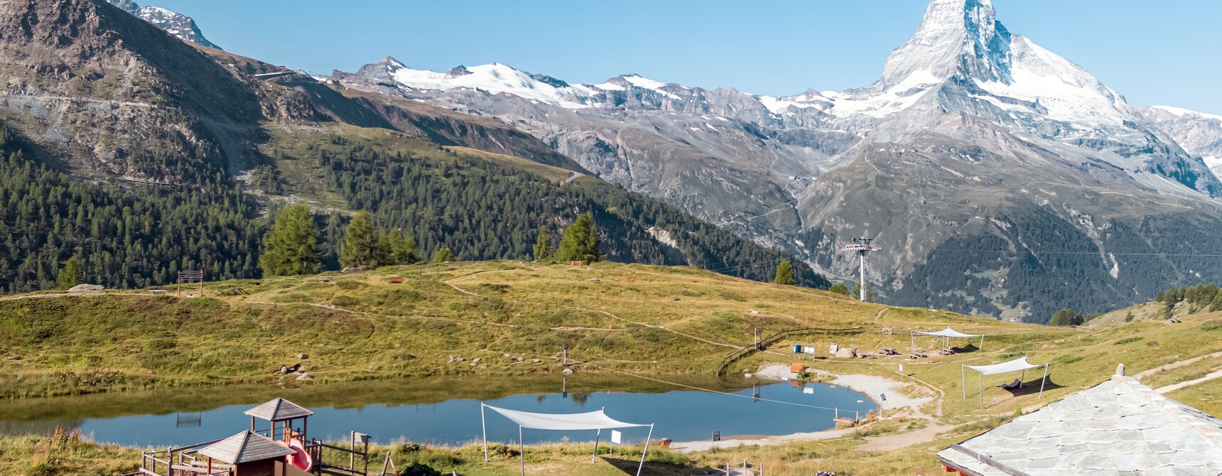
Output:
[[[414,68],[502,62],[568,82],[638,73],[789,95],[873,83],[924,0],[137,0],[196,18],[229,51],[313,73],[391,55]],[[1222,1],[993,0],[1012,33],[1134,106],[1222,114]]]

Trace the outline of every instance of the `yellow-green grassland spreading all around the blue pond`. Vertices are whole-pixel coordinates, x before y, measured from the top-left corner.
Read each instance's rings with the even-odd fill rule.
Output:
[[[194,293],[194,290],[192,290]],[[362,405],[385,395],[392,377],[434,376],[430,382],[397,394],[402,403],[445,398],[495,398],[535,392],[535,383],[560,371],[561,345],[572,345],[580,386],[598,387],[650,376],[712,387],[722,359],[753,342],[753,330],[765,334],[797,328],[848,330],[827,334],[797,333],[766,352],[734,362],[732,378],[761,365],[803,361],[840,375],[866,373],[908,383],[901,392],[935,399],[920,410],[901,411],[841,438],[742,447],[692,454],[651,453],[650,474],[695,475],[727,461],[763,463],[769,474],[805,475],[837,471],[847,475],[932,474],[932,453],[1081,388],[1094,386],[1125,364],[1129,375],[1205,356],[1199,361],[1143,376],[1151,387],[1200,378],[1222,367],[1222,312],[1180,316],[1183,322],[1135,319],[1099,327],[1045,327],[1000,322],[927,309],[858,303],[843,295],[759,283],[690,267],[624,264],[569,266],[521,261],[480,261],[412,265],[364,273],[324,273],[207,283],[204,297],[153,295],[148,290],[81,295],[39,293],[0,298],[0,352],[21,360],[0,360],[0,392],[5,397],[48,397],[150,388],[132,393],[132,406],[145,411],[211,408],[297,392],[331,405]],[[930,356],[869,359],[822,358],[822,349],[840,344],[863,352],[895,348],[909,353],[909,330],[953,327],[987,336],[982,349],[971,341],[963,353],[937,355],[930,337],[915,341]],[[794,356],[793,343],[815,345],[820,358]],[[954,347],[969,344],[951,339]],[[308,354],[297,360],[298,353]],[[980,409],[978,380],[969,375],[967,398],[960,366],[991,364],[1026,355],[1051,364],[1042,399],[1035,392],[1040,371],[1026,375],[1028,392],[1011,394],[997,386],[1017,375],[987,377],[985,408]],[[451,360],[462,356],[462,361]],[[480,359],[474,362],[474,359]],[[276,370],[301,361],[314,380],[297,381]],[[903,364],[903,375],[898,372]],[[451,378],[479,376],[484,384],[447,384]],[[622,382],[621,382],[622,381]],[[725,382],[725,378],[720,380]],[[280,386],[271,386],[277,383]],[[235,392],[207,392],[218,384]],[[666,391],[659,382],[645,391]],[[1216,403],[1222,380],[1171,392],[1168,397],[1222,413]],[[198,387],[186,389],[182,387]],[[306,392],[302,387],[335,388]],[[455,395],[446,388],[468,388]],[[580,387],[578,387],[580,388]],[[593,388],[593,387],[591,387]],[[876,397],[876,395],[871,395]],[[104,395],[68,397],[73,405],[46,405],[46,416],[126,414]],[[5,415],[38,414],[40,402],[9,400]],[[147,410],[152,408],[153,410]],[[927,419],[926,419],[927,417]],[[866,438],[946,428],[916,444],[888,452],[857,449]],[[53,450],[53,448],[60,448]],[[623,456],[589,463],[588,444],[528,448],[534,472],[613,475],[639,458],[639,448]],[[420,448],[395,444],[400,466],[413,461],[463,475],[511,475],[517,471],[512,448],[494,452],[484,464],[478,447]],[[75,455],[71,461],[60,454]],[[0,438],[0,472],[114,472],[134,464],[133,450],[94,445],[68,437]],[[50,463],[46,463],[50,461]],[[627,461],[627,463],[626,463]],[[43,466],[38,466],[43,464]],[[50,465],[50,466],[48,466]],[[38,466],[38,467],[35,467]],[[54,471],[48,470],[54,467]],[[775,472],[774,472],[775,470]],[[44,472],[38,472],[44,471]],[[50,472],[48,472],[50,471]]]

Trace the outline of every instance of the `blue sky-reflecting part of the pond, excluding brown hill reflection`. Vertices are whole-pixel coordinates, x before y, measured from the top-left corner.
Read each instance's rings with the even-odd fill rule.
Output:
[[[874,410],[865,395],[843,387],[808,384],[807,389],[792,382],[760,387],[760,397],[807,405],[840,408],[841,416],[862,415]],[[809,393],[808,393],[809,392]],[[752,389],[736,392],[750,397]],[[857,400],[864,400],[857,403]],[[578,413],[606,408],[609,416],[628,422],[657,424],[655,438],[676,441],[706,439],[714,431],[733,435],[788,435],[832,427],[832,411],[776,402],[753,402],[750,398],[708,392],[679,391],[668,393],[560,393],[527,394],[488,402],[490,405],[538,413]],[[127,445],[182,445],[224,438],[251,425],[242,413],[253,405],[221,406],[191,414],[134,415],[82,421],[0,421],[6,433],[45,433],[56,425],[81,428],[100,442]],[[309,435],[314,438],[343,441],[348,431],[370,435],[376,442],[411,439],[433,444],[458,444],[480,438],[479,402],[446,400],[422,405],[365,405],[335,409],[312,408]],[[843,411],[848,410],[848,414]],[[260,422],[265,425],[265,422]],[[260,426],[262,428],[263,426]],[[624,443],[644,439],[648,428],[622,430]],[[489,411],[489,441],[516,442],[518,428],[510,420]],[[527,443],[560,441],[591,441],[594,432],[530,431]]]

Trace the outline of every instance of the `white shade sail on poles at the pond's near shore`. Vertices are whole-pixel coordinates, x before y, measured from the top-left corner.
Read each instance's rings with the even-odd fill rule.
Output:
[[[518,424],[518,455],[522,458],[522,475],[527,474],[527,460],[525,460],[525,444],[522,442],[522,428],[530,430],[550,430],[550,431],[578,431],[578,430],[595,430],[594,437],[594,455],[590,456],[590,461],[595,461],[599,454],[599,438],[602,437],[602,430],[611,428],[632,428],[648,426],[649,436],[645,437],[645,449],[640,452],[640,465],[637,466],[637,476],[640,476],[640,470],[645,467],[645,455],[649,454],[649,441],[654,437],[654,424],[628,424],[623,421],[615,420],[607,416],[602,410],[587,411],[582,414],[535,414],[529,411],[510,410],[503,408],[496,408],[485,403],[479,404],[479,421],[484,427],[484,461],[488,461],[488,420],[484,416],[484,409],[491,409],[501,414],[502,416],[513,420]]]

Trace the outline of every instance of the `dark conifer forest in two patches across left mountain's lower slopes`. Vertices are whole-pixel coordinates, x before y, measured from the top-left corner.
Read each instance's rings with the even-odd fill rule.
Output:
[[[458,260],[528,260],[540,227],[556,245],[567,225],[590,212],[612,261],[690,264],[764,281],[785,258],[599,181],[560,184],[457,154],[422,160],[340,135],[331,142],[310,157],[325,170],[327,188],[351,210],[368,210],[379,233],[402,229],[422,256],[448,248]],[[203,270],[209,281],[263,275],[268,215],[280,206],[258,203],[232,178],[116,187],[53,168],[20,144],[0,129],[0,292],[55,288],[73,256],[82,282],[108,288],[169,284],[180,270]],[[349,214],[316,214],[323,269],[337,270]],[[651,226],[675,237],[677,248],[650,236]],[[805,265],[794,270],[798,283],[826,287]]]

